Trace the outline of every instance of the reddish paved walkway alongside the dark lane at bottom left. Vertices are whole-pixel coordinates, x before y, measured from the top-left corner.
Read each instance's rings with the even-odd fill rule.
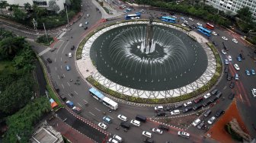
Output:
[[[67,125],[65,122],[63,122],[59,118],[52,119],[49,122],[49,124],[53,126],[53,128],[56,129],[58,132],[61,132],[61,134],[72,143],[80,143],[80,142],[93,143],[94,142],[91,140],[91,138],[88,138],[82,133],[77,132],[75,129],[72,129],[72,127]]]

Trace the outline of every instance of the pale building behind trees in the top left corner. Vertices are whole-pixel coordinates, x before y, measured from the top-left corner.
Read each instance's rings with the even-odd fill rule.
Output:
[[[4,1],[4,0],[0,0]],[[20,7],[24,7],[25,3],[29,3],[32,5],[37,5],[40,8],[49,8],[49,2],[52,0],[5,0],[9,5],[19,5]],[[64,9],[64,4],[66,0],[55,0],[56,4],[59,5],[59,11]]]

